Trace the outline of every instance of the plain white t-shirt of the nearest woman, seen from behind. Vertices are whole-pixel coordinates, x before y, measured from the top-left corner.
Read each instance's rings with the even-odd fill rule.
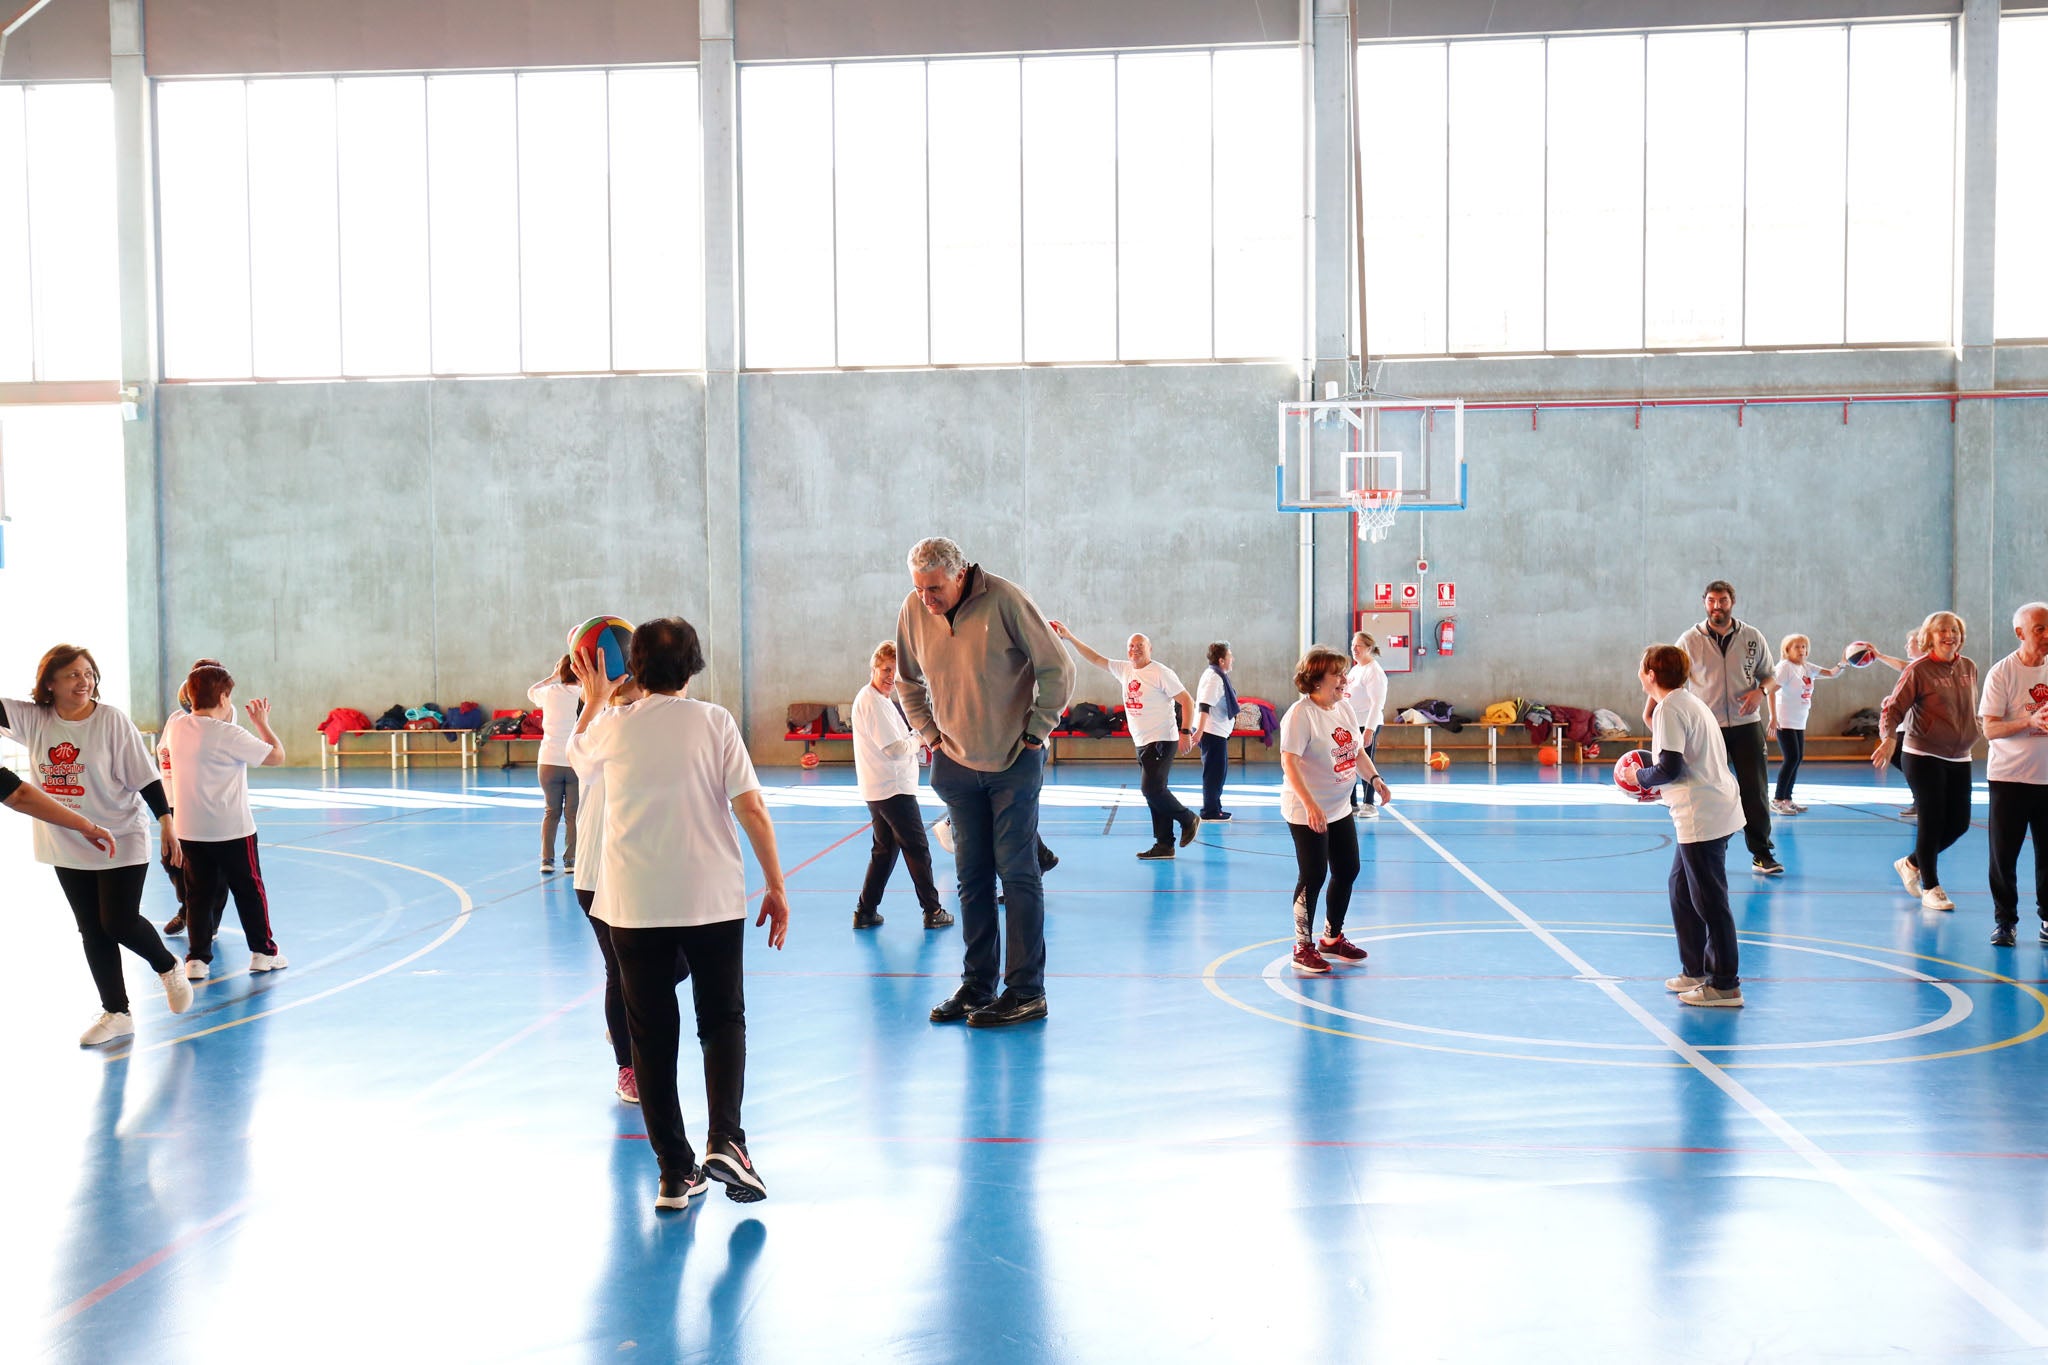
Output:
[[[758,792],[760,778],[731,712],[647,696],[592,722],[569,753],[578,772],[604,780],[594,917],[614,929],[666,929],[748,913],[731,800]]]

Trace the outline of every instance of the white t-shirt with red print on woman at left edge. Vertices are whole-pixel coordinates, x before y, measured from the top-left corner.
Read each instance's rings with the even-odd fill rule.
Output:
[[[150,862],[150,808],[141,792],[160,780],[141,731],[119,708],[100,702],[84,720],[63,720],[55,706],[4,698],[6,729],[29,751],[29,780],[115,837],[115,855],[84,835],[35,821],[35,862],[53,868],[135,868]]]

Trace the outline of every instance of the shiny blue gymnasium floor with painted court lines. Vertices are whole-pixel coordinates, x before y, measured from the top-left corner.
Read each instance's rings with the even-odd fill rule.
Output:
[[[670,1216],[596,948],[535,872],[530,769],[262,774],[291,970],[252,980],[229,929],[174,1019],[129,960],[106,1058],[8,817],[0,1359],[2048,1359],[2034,923],[1987,943],[1980,829],[1944,864],[1958,911],[1919,911],[1903,786],[1810,774],[1790,874],[1731,853],[1749,1007],[1690,1011],[1661,988],[1669,819],[1597,769],[1397,769],[1352,915],[1372,960],[1296,980],[1278,769],[1141,864],[1135,769],[1065,765],[1051,1021],[967,1031],[926,1021],[958,931],[901,872],[887,927],[848,927],[850,774],[768,772],[770,1199]],[[684,1101],[700,1134],[692,1070]]]

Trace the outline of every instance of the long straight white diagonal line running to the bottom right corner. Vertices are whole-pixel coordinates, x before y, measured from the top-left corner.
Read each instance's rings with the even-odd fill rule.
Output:
[[[1483,876],[1479,876],[1462,862],[1458,862],[1458,857],[1450,849],[1446,849],[1442,843],[1423,833],[1421,827],[1415,825],[1415,821],[1407,819],[1407,814],[1403,814],[1395,806],[1389,806],[1386,812],[1393,814],[1403,825],[1407,825],[1409,833],[1413,833],[1417,839],[1430,845],[1430,849],[1434,849],[1438,857],[1442,857],[1458,872],[1458,876],[1462,876],[1466,882],[1479,888],[1483,896],[1487,896],[1489,900],[1493,900],[1493,905],[1513,915],[1513,919],[1524,929],[1534,933],[1536,939],[1540,939],[1550,952],[1569,962],[1573,970],[1579,972],[1579,980],[1591,982],[1595,988],[1599,988],[1602,995],[1606,995],[1610,1001],[1628,1011],[1628,1015],[1645,1029],[1649,1029],[1653,1038],[1663,1042],[1663,1046],[1667,1046],[1671,1052],[1683,1058],[1686,1064],[1690,1064],[1702,1076],[1712,1081],[1722,1095],[1741,1105],[1749,1113],[1749,1117],[1763,1124],[1763,1128],[1767,1128],[1780,1142],[1784,1142],[1788,1148],[1804,1156],[1806,1164],[1819,1171],[1829,1183],[1835,1185],[1835,1189],[1862,1203],[1872,1218],[1876,1218],[1880,1224],[1884,1224],[1901,1238],[1905,1238],[1907,1244],[1911,1244],[1919,1254],[1923,1254],[1937,1271],[1948,1275],[1950,1283],[1954,1283],[1958,1289],[1976,1300],[1999,1322],[2013,1328],[2013,1332],[2017,1332],[2019,1338],[2025,1340],[2030,1347],[2036,1349],[2048,1347],[2048,1324],[2042,1324],[2040,1318],[2030,1314],[2025,1308],[2007,1297],[2003,1289],[1999,1289],[1989,1279],[1978,1275],[1972,1265],[1968,1265],[1962,1257],[1950,1250],[1939,1238],[1935,1238],[1931,1232],[1915,1224],[1911,1218],[1907,1218],[1898,1207],[1894,1207],[1874,1189],[1864,1185],[1864,1181],[1858,1179],[1855,1173],[1851,1173],[1839,1160],[1821,1150],[1821,1146],[1812,1138],[1792,1128],[1792,1124],[1782,1113],[1765,1105],[1757,1095],[1749,1091],[1749,1087],[1745,1087],[1741,1081],[1737,1081],[1720,1066],[1716,1066],[1704,1052],[1700,1052],[1683,1038],[1673,1033],[1671,1025],[1667,1025],[1663,1019],[1659,1019],[1649,1009],[1638,1005],[1626,990],[1622,990],[1618,980],[1602,974],[1591,962],[1587,962],[1571,948],[1567,948],[1554,933],[1544,929],[1526,911],[1522,911],[1522,907],[1518,907],[1513,900],[1497,892],[1493,886],[1487,884]]]

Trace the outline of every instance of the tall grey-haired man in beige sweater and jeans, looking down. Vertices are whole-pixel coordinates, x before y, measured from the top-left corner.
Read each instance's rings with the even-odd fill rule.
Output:
[[[932,792],[952,819],[967,950],[961,988],[932,1009],[932,1021],[1044,1019],[1038,788],[1047,735],[1073,692],[1073,661],[1022,587],[967,563],[944,536],[911,546],[909,581],[897,614],[897,700],[932,747]],[[1001,952],[997,876],[1008,892]]]

